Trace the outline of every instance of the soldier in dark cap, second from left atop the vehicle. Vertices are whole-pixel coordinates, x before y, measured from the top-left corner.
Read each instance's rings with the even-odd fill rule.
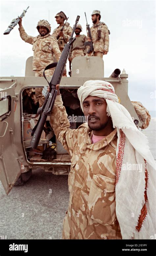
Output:
[[[65,25],[65,20],[67,19],[67,17],[64,12],[61,11],[57,13],[55,18],[59,26],[54,29],[52,36],[54,36],[57,39],[60,51],[62,52],[65,44],[69,41],[69,38],[72,33],[72,28],[68,22],[67,22],[68,24]],[[62,28],[63,28],[63,31],[61,31]],[[66,76],[66,68],[64,70],[63,76]]]

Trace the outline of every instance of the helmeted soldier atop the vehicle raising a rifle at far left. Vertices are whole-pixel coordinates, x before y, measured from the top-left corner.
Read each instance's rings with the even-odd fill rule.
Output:
[[[56,38],[50,35],[51,26],[48,21],[40,20],[37,24],[37,29],[39,35],[36,37],[29,36],[25,32],[22,26],[22,19],[20,18],[19,33],[22,40],[26,43],[33,45],[34,57],[33,57],[33,70],[35,71],[35,76],[43,76],[44,68],[53,63],[53,54],[57,61],[59,61],[61,52],[57,43]],[[53,69],[45,71],[46,76],[52,76],[54,73]],[[39,100],[39,107],[43,105],[44,96],[42,95],[42,88],[36,89],[36,97]]]

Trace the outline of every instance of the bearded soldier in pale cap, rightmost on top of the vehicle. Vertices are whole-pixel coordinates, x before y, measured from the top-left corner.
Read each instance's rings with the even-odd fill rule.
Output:
[[[94,52],[88,55],[94,55],[103,58],[103,55],[108,53],[110,31],[107,25],[100,21],[100,19],[100,11],[94,10],[91,14],[91,20],[93,22],[93,26],[91,27],[91,36]]]

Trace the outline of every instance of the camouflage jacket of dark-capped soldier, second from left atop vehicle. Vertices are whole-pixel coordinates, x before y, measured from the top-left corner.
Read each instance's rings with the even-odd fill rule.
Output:
[[[52,33],[52,36],[57,38],[58,33],[60,32],[61,28],[62,28],[62,25],[59,25],[57,28],[55,28]],[[69,38],[72,33],[71,26],[64,26],[63,33],[64,33],[64,36],[60,36],[58,39],[58,45],[59,45],[60,50],[63,50],[65,44],[69,41]]]

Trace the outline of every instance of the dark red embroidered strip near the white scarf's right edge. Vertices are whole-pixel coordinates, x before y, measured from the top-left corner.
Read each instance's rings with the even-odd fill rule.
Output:
[[[146,160],[144,159],[144,162],[145,162],[145,191],[144,191],[144,205],[143,205],[143,208],[141,209],[141,214],[139,216],[139,219],[138,219],[138,225],[136,226],[136,231],[140,231],[141,230],[141,227],[143,225],[143,221],[144,219],[146,218],[146,215],[147,215],[147,208],[146,208],[146,202],[147,202],[147,183],[148,183],[148,172],[147,172],[147,162]]]

